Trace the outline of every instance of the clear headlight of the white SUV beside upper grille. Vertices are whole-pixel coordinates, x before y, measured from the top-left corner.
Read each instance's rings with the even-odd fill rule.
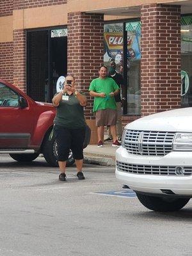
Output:
[[[173,140],[173,150],[192,151],[192,133],[177,132]]]

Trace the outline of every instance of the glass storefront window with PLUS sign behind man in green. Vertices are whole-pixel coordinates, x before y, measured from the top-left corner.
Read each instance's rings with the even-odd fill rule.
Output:
[[[140,40],[141,23],[138,21],[126,22],[127,31],[127,81],[125,81],[126,109],[127,115],[140,115]],[[123,75],[124,60],[124,24],[104,25],[104,65],[109,67],[110,61],[115,61],[116,71]]]

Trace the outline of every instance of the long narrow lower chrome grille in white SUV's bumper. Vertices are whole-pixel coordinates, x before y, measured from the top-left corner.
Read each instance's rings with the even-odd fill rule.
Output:
[[[116,168],[120,172],[144,174],[144,175],[166,175],[175,176],[175,168],[177,166],[161,166],[161,165],[143,165],[143,164],[129,164],[116,161]],[[184,174],[182,176],[189,176],[192,174],[192,167],[185,166]]]

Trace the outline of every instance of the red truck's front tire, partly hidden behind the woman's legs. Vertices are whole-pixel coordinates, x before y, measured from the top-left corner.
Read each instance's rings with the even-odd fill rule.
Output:
[[[52,135],[51,140],[49,139],[49,135],[50,135],[50,133],[47,134],[47,136],[44,140],[44,143],[43,143],[43,154],[44,154],[44,157],[45,157],[45,160],[47,161],[47,163],[49,163],[53,167],[58,167],[57,143],[56,143],[54,134]],[[72,164],[74,164],[74,162],[75,162],[75,160],[74,160],[73,154],[70,150],[66,165],[71,166]]]

